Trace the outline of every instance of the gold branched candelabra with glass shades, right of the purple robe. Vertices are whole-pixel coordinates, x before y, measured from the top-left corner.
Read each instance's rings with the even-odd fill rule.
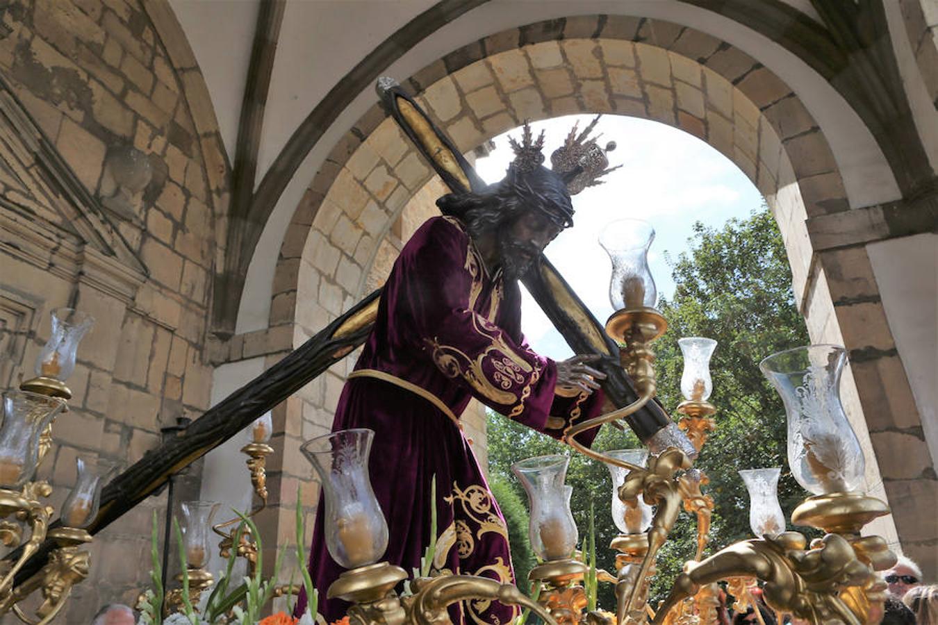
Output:
[[[888,551],[883,539],[859,536],[860,528],[876,516],[887,513],[888,509],[877,499],[849,492],[858,483],[857,476],[862,475],[862,454],[859,453],[858,443],[855,454],[847,454],[847,457],[859,456],[859,468],[855,463],[841,466],[843,463],[838,464],[841,455],[825,453],[831,446],[838,445],[841,447],[837,451],[854,451],[850,445],[851,437],[855,440],[855,436],[846,418],[835,420],[826,429],[822,428],[823,431],[810,429],[812,426],[818,428],[809,421],[811,410],[816,410],[818,406],[826,404],[823,408],[825,415],[837,416],[840,410],[842,416],[840,398],[836,394],[840,375],[840,368],[836,365],[840,353],[836,350],[822,350],[820,353],[815,353],[817,348],[793,350],[794,356],[782,352],[766,359],[761,365],[779,393],[793,394],[801,398],[798,401],[822,389],[834,389],[825,396],[811,398],[813,401],[789,413],[790,420],[801,419],[805,422],[798,424],[805,436],[789,440],[790,457],[803,459],[797,468],[793,467],[793,473],[801,484],[815,493],[814,497],[807,499],[794,511],[793,522],[823,528],[828,532],[824,539],[815,543],[808,544],[801,534],[784,531],[784,517],[780,508],[774,510],[778,508],[778,499],[775,499],[775,483],[772,483],[774,508],[767,506],[772,509],[769,516],[755,517],[756,512],[766,507],[757,506],[755,500],[750,510],[750,525],[761,538],[735,543],[709,558],[703,558],[714,502],[702,491],[702,486],[708,483],[707,476],[700,469],[692,469],[688,454],[676,447],[668,447],[643,467],[628,455],[598,452],[576,438],[582,432],[628,417],[656,393],[655,353],[651,345],[665,332],[667,323],[653,307],[656,291],[647,271],[646,253],[654,232],[646,224],[619,226],[622,227],[613,225],[607,228],[603,239],[600,239],[613,259],[611,299],[617,309],[607,322],[606,331],[620,346],[621,364],[634,382],[639,396],[624,408],[567,427],[564,435],[564,440],[576,451],[610,467],[613,471],[613,485],[617,484],[615,492],[622,504],[619,514],[624,521],[619,526],[623,533],[615,537],[611,544],[619,552],[614,579],[617,622],[621,625],[638,624],[651,618],[654,623],[715,624],[720,608],[716,582],[721,579],[730,582],[740,604],[754,605],[755,600],[749,588],[762,582],[765,603],[779,615],[788,613],[815,624],[834,620],[849,625],[866,622],[876,603],[881,603],[885,598],[884,585],[876,581],[873,571],[890,566],[895,557]],[[628,229],[637,229],[639,236],[636,237],[634,232],[629,233]],[[682,415],[678,426],[687,433],[689,441],[699,453],[716,426],[716,407],[707,401],[712,390],[709,359],[716,341],[691,337],[681,339],[679,344],[685,356],[685,372],[681,380],[685,400],[677,407]],[[802,360],[807,358],[807,364],[795,362],[798,357]],[[828,378],[827,384],[813,381],[825,376]],[[785,403],[786,408],[789,408],[794,407],[797,401],[786,397]],[[793,445],[796,449],[791,454]],[[550,490],[545,484],[553,484],[551,487],[556,489],[558,483],[556,479],[544,476],[553,472],[555,478],[557,471],[562,475],[566,466],[563,456],[542,456],[516,463],[512,467],[531,499],[532,546],[538,555],[547,559],[532,570],[530,578],[543,588],[537,601],[540,613],[550,615],[552,620],[564,625],[603,623],[608,619],[598,612],[585,613],[587,602],[580,583],[585,567],[581,562],[569,558],[572,551],[569,539],[572,536],[575,543],[576,528],[575,525],[568,527],[572,525],[568,499],[557,493],[551,496],[545,494]],[[325,464],[320,463],[317,469],[325,476],[324,467]],[[616,482],[614,477],[616,470],[628,471],[621,483]],[[749,471],[758,475],[743,476],[744,480],[752,480],[758,486],[754,487],[755,490],[750,487],[750,497],[756,497],[759,493],[759,497],[768,497],[764,470]],[[774,470],[777,481],[778,469]],[[538,479],[542,481],[538,483]],[[561,479],[559,484],[562,482]],[[326,497],[330,497],[330,488],[334,489],[335,486],[326,484]],[[534,493],[539,494],[537,497],[549,498],[554,502],[552,506],[547,506],[547,513],[543,510],[545,504],[537,500]],[[336,497],[335,494],[331,496]],[[650,515],[648,522],[644,519],[643,506],[655,506],[654,514]],[[697,518],[695,557],[685,565],[684,573],[678,576],[668,599],[655,611],[647,604],[649,580],[655,572],[658,551],[667,540],[682,506]],[[377,511],[377,515],[380,517],[380,511]],[[376,519],[375,522],[379,520],[383,521]],[[330,519],[326,521],[330,522]],[[386,526],[382,527],[386,532]],[[551,531],[545,531],[547,527]],[[372,535],[377,536],[377,533],[372,532]],[[328,536],[327,529],[327,540]],[[545,544],[535,544],[536,538]],[[557,544],[547,544],[548,539]],[[386,535],[384,541],[381,543],[382,551]],[[336,554],[332,549],[330,552]],[[366,563],[357,563],[356,566],[360,564]],[[394,573],[391,574],[391,571]],[[425,603],[413,599],[401,600],[390,592],[390,588],[403,577],[404,573],[396,567],[386,564],[366,565],[343,575],[329,588],[329,596],[353,602],[349,615],[360,623],[418,622],[421,618],[427,618],[430,613],[418,609]],[[481,594],[481,588],[463,576],[445,579],[446,588],[453,590],[450,597],[454,601],[456,597],[475,596],[473,592],[480,593],[477,596],[492,596],[492,592]],[[418,588],[430,588],[437,583],[436,580],[425,581]],[[494,583],[490,581],[490,584]],[[761,620],[758,609],[756,614]],[[442,613],[437,616],[440,615]],[[436,621],[430,618],[420,622]]]

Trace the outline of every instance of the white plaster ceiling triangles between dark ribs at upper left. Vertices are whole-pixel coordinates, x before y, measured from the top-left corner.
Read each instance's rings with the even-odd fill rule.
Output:
[[[809,0],[781,1],[820,21]],[[222,141],[229,160],[234,162],[234,143],[260,2],[170,0],[170,4],[199,61],[215,106]],[[296,127],[343,76],[375,46],[434,4],[435,0],[287,0],[266,102],[255,183],[260,182]],[[576,0],[538,3],[494,0],[492,4],[522,8],[528,16],[527,22],[546,18],[548,14],[590,12]],[[629,4],[664,6],[674,3],[652,0],[650,3],[613,4],[618,5],[614,7],[618,10],[613,12],[628,13]],[[533,10],[535,7],[538,10]],[[503,20],[489,22],[487,28],[473,32],[471,37],[463,37],[465,43],[497,32],[498,22]]]

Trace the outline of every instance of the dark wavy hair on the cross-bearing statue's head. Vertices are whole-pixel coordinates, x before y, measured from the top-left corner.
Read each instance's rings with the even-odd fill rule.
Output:
[[[501,182],[479,193],[446,194],[436,205],[444,215],[459,218],[473,237],[510,223],[528,209],[542,211],[562,228],[573,225],[567,185],[543,166],[525,173],[511,167]]]

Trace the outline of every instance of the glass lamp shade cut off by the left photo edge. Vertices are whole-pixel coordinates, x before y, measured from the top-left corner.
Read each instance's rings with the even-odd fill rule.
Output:
[[[19,489],[36,472],[39,435],[65,408],[65,401],[27,391],[3,393],[0,426],[0,487]]]

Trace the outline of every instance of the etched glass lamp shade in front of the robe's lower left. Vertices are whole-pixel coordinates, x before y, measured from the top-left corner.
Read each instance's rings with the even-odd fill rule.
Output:
[[[357,428],[300,447],[323,484],[325,545],[346,569],[374,564],[387,549],[387,522],[368,473],[373,439],[374,431]]]

